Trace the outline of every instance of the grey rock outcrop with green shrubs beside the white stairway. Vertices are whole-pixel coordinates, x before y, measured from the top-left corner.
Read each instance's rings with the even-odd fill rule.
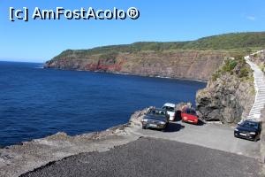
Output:
[[[197,92],[196,107],[204,120],[237,123],[254,103],[254,77],[244,58],[227,58],[206,89]]]

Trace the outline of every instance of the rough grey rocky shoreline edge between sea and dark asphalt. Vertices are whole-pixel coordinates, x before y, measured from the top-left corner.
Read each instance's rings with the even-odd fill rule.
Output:
[[[0,149],[0,177],[15,177],[33,171],[42,165],[82,152],[106,151],[137,140],[132,134],[140,128],[140,119],[147,109],[133,113],[125,125],[110,127],[102,132],[70,136],[59,132],[21,145]]]

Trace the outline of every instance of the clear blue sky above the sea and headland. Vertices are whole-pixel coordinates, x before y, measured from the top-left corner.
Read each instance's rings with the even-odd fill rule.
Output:
[[[137,20],[9,20],[9,8],[94,7],[140,11]],[[265,31],[264,0],[1,0],[0,60],[44,62],[67,49],[171,42],[231,32]]]

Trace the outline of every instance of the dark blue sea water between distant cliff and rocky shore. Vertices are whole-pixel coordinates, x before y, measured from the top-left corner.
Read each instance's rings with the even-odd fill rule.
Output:
[[[197,81],[42,69],[0,62],[0,145],[52,135],[78,135],[128,121],[150,105],[193,102]]]

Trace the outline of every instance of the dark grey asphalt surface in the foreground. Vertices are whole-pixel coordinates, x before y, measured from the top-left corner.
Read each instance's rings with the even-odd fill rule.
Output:
[[[110,151],[64,158],[21,176],[250,177],[261,176],[260,167],[254,158],[182,142],[140,138]]]

